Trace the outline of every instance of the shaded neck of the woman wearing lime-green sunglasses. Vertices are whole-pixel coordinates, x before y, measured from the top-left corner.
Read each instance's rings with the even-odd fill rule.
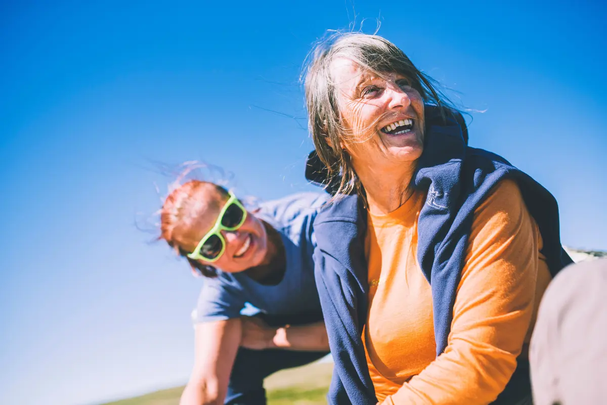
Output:
[[[260,284],[276,285],[282,281],[287,269],[287,255],[280,233],[270,224],[263,222],[268,235],[268,252],[262,263],[245,270],[246,275]]]

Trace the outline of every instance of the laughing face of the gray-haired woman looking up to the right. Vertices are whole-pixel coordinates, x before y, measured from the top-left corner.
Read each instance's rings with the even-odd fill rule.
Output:
[[[415,162],[424,149],[424,101],[410,79],[380,77],[346,58],[336,58],[331,72],[354,169]]]

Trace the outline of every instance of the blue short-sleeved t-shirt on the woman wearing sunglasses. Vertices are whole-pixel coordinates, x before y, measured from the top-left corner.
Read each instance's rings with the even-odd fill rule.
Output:
[[[287,269],[276,286],[265,286],[245,272],[205,278],[194,316],[195,323],[227,320],[260,311],[268,315],[319,313],[314,281],[314,231],[312,224],[326,193],[299,193],[260,204],[255,213],[274,227],[285,245]]]

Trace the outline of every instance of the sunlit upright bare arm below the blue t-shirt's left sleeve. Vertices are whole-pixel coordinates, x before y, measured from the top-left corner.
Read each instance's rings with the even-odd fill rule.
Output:
[[[241,336],[239,318],[196,325],[194,369],[180,405],[223,404]]]

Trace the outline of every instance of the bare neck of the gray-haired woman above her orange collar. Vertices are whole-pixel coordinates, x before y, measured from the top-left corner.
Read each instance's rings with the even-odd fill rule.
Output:
[[[365,166],[354,168],[367,194],[368,209],[373,214],[387,214],[402,206],[412,195],[411,181],[415,164],[379,168]]]

